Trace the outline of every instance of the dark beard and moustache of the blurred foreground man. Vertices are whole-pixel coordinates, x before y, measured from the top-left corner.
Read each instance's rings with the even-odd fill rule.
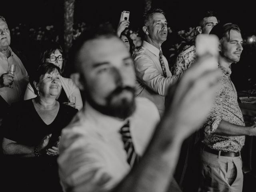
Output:
[[[113,103],[112,100],[115,97],[118,97],[123,91],[128,91],[132,93],[132,99],[128,100],[127,98],[120,99],[120,102]],[[111,92],[106,98],[106,105],[97,104],[89,92],[86,92],[86,100],[98,112],[108,115],[117,117],[120,119],[126,119],[133,114],[136,109],[135,104],[135,89],[126,86],[126,87],[117,87],[113,92]]]

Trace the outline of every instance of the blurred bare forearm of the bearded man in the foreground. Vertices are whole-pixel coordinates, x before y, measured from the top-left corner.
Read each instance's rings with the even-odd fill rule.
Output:
[[[138,166],[112,192],[165,192],[172,180],[181,144],[182,139],[170,132],[170,124],[159,125]]]

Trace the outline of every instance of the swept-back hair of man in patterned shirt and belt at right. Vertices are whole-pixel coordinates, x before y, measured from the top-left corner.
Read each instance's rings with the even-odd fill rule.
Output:
[[[235,30],[238,32],[241,32],[238,25],[233,23],[226,23],[226,24],[217,24],[215,25],[212,30],[210,31],[210,34],[214,34],[218,36],[218,38],[221,40],[223,37],[226,37],[227,40],[230,40],[230,31]]]

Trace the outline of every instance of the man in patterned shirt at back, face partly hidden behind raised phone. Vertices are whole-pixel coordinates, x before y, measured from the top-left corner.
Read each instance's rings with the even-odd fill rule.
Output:
[[[212,28],[218,24],[218,18],[215,12],[207,11],[203,14],[202,19],[199,22],[199,26],[196,27],[196,30],[199,33],[209,34]],[[187,68],[190,67],[192,63],[196,60],[196,48],[195,46],[190,46],[183,52],[181,52],[174,65],[172,74],[178,75],[184,72]]]

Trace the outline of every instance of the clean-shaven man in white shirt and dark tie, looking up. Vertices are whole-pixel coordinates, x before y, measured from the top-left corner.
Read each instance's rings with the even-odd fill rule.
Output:
[[[144,14],[145,40],[134,54],[134,68],[138,86],[136,95],[151,100],[162,116],[165,96],[171,84],[179,76],[172,76],[168,62],[162,54],[161,45],[167,38],[167,21],[161,9]]]

